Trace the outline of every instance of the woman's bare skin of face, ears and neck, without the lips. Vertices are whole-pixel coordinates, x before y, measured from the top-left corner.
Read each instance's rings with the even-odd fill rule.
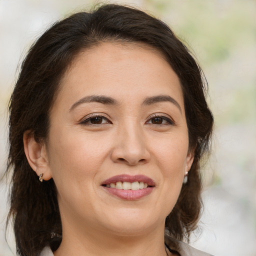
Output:
[[[81,102],[90,95],[116,104]],[[157,95],[177,104],[143,104]],[[30,166],[57,187],[63,240],[55,256],[166,255],[165,217],[193,153],[179,79],[159,52],[114,42],[81,52],[62,79],[46,141],[29,132],[23,141]],[[140,199],[121,199],[101,185],[119,174],[146,175],[155,187]]]

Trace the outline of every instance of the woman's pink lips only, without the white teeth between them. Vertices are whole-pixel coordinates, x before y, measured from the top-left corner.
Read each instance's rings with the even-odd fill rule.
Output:
[[[138,190],[124,190],[124,189],[117,189],[117,188],[111,188],[111,187],[106,187],[103,185],[106,184],[110,184],[110,183],[116,183],[118,181],[127,181],[127,182],[135,182],[135,181],[142,181],[144,183],[148,184],[148,187],[143,188],[143,189],[138,189]],[[140,199],[146,195],[148,195],[149,193],[151,193],[154,189],[155,186],[155,182],[144,175],[134,175],[134,176],[130,176],[127,174],[121,174],[121,175],[116,175],[113,177],[110,177],[106,180],[104,180],[102,182],[102,187],[109,192],[112,195],[115,195],[121,199],[125,199],[125,200],[137,200]]]

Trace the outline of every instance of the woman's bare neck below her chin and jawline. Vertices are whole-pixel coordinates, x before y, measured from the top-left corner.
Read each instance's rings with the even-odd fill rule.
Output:
[[[62,242],[54,256],[166,256],[164,226],[139,234],[113,234],[103,230],[74,231],[64,227]],[[171,254],[170,254],[171,255]]]

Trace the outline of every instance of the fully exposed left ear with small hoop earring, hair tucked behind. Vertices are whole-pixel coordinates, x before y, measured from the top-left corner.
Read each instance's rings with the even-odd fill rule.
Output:
[[[50,179],[52,176],[45,143],[37,142],[34,138],[34,132],[26,130],[23,133],[23,144],[30,167],[36,172],[37,176],[43,173],[42,179]]]

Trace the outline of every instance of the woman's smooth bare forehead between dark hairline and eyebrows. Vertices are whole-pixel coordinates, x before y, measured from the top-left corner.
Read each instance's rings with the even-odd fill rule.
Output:
[[[66,70],[57,98],[105,94],[134,100],[171,94],[183,104],[176,73],[163,54],[144,43],[103,42],[80,52]]]

